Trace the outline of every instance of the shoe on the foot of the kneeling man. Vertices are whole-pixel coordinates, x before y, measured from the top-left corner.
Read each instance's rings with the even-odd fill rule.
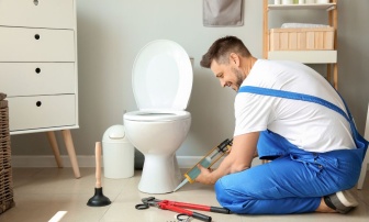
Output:
[[[343,190],[329,196],[325,196],[324,202],[338,213],[347,213],[359,204],[348,190]]]

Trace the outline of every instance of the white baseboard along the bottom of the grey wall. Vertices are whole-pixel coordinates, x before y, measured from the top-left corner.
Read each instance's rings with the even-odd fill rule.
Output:
[[[69,157],[62,155],[64,167],[71,167]],[[202,156],[177,156],[180,168],[191,168],[201,160]],[[77,156],[79,167],[94,167],[94,156]],[[56,167],[55,157],[48,156],[22,156],[12,155],[12,167]],[[259,159],[255,159],[253,165],[258,165]],[[102,164],[103,166],[103,164]],[[216,165],[215,165],[216,167]]]

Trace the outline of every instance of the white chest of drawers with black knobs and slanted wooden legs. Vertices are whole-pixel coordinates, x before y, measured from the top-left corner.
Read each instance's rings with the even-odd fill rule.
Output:
[[[77,165],[69,132],[79,127],[75,1],[0,0],[0,91],[8,95],[10,134],[48,132],[59,166],[51,133],[59,130]]]

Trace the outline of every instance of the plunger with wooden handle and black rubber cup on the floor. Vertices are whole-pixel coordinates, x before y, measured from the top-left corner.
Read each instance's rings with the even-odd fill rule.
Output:
[[[94,157],[96,157],[96,186],[94,196],[89,199],[87,206],[89,207],[104,207],[111,203],[110,199],[102,193],[101,187],[101,143],[96,142],[94,146]]]

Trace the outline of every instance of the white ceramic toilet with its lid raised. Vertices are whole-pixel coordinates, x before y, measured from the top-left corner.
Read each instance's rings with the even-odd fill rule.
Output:
[[[191,125],[191,114],[185,109],[192,79],[188,54],[172,41],[148,43],[134,62],[132,87],[138,111],[123,119],[128,140],[145,156],[142,192],[171,192],[181,182],[176,151]]]

